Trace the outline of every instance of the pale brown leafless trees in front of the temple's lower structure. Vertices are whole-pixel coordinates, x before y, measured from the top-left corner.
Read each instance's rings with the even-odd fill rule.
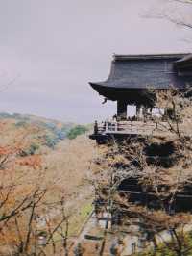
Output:
[[[155,141],[160,142],[160,137],[152,135],[143,137],[143,140],[139,137],[128,138],[121,143],[113,141],[108,144],[108,150],[101,159],[96,160],[99,170],[93,181],[99,201],[98,209],[96,208],[98,213],[109,209],[113,217],[116,215],[119,218],[117,221],[121,231],[133,223],[148,234],[154,243],[155,253],[156,238],[161,237],[164,246],[175,251],[178,256],[190,255],[192,249],[186,242],[184,231],[191,216],[175,209],[177,196],[185,194],[185,188],[191,188],[192,183],[191,138],[186,136],[187,129],[190,133],[192,127],[188,123],[184,132],[182,128],[191,118],[192,101],[185,97],[185,93],[186,91],[181,93],[174,89],[156,93],[156,106],[159,109],[172,109],[172,115],[166,119],[166,129],[173,137],[167,137],[163,142],[171,141],[174,144],[173,166],[162,166],[157,157],[153,164],[149,164],[146,146]],[[140,194],[141,197],[144,195],[148,198],[147,202],[135,204],[132,201],[132,192],[119,190],[122,181],[130,178],[136,180],[139,187],[132,192]],[[161,232],[165,230],[169,231],[169,239],[161,236]]]

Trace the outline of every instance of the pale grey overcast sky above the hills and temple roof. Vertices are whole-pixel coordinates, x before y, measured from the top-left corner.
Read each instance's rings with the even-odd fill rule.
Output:
[[[144,17],[165,2],[0,0],[0,111],[82,123],[114,114],[88,85],[107,79],[113,53],[191,51],[192,31]]]

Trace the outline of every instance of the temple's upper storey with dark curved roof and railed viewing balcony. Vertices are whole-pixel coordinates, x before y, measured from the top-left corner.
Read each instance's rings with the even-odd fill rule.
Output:
[[[90,86],[105,98],[104,102],[117,102],[117,111],[113,116],[115,121],[104,121],[102,125],[96,122],[90,138],[102,143],[111,136],[122,138],[128,134],[151,133],[154,130],[152,123],[148,122],[151,128],[142,130],[138,121],[153,119],[156,90],[170,90],[173,87],[183,90],[191,83],[192,54],[114,55],[108,79],[91,82]],[[136,108],[132,127],[128,106]],[[162,111],[167,114],[168,110]]]

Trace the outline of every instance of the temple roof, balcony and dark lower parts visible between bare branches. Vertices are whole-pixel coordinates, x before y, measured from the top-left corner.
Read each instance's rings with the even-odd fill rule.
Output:
[[[170,129],[171,109],[168,106],[164,107],[160,116],[154,115],[153,110],[156,109],[157,90],[167,92],[177,89],[183,92],[184,97],[191,98],[192,54],[114,55],[107,81],[91,82],[90,85],[105,97],[105,101],[117,102],[115,118],[113,116],[102,124],[96,121],[90,139],[96,140],[99,144],[113,139],[126,139],[129,145],[132,144],[132,139],[136,139],[143,148],[142,155],[146,158],[146,165],[149,168],[159,166],[171,169],[177,165],[178,145],[174,142],[176,134],[173,132],[177,124],[173,121],[172,130]],[[128,116],[128,106],[135,106],[135,115],[132,117]],[[180,120],[180,135],[188,141],[192,138],[191,129],[183,120]],[[137,168],[137,162],[131,166],[134,165]],[[132,169],[130,166],[129,168]],[[145,204],[145,192],[142,191],[143,184],[140,183],[139,175],[142,176],[142,172],[123,180],[118,190],[129,193],[130,201]],[[166,182],[161,184],[165,191]],[[187,200],[190,198],[192,202],[192,193],[191,189],[188,189],[190,186],[187,186],[185,184],[183,190],[176,195],[175,210],[189,207],[191,211]],[[153,205],[152,207],[156,204],[159,206],[155,193],[152,189],[150,196],[148,194],[148,202]]]

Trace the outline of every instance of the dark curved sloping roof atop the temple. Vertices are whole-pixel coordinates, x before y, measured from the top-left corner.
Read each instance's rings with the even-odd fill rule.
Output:
[[[192,82],[191,75],[180,76],[177,61],[189,54],[114,55],[110,74],[104,82],[90,83],[102,94],[102,88],[112,89],[168,89],[182,88]]]

